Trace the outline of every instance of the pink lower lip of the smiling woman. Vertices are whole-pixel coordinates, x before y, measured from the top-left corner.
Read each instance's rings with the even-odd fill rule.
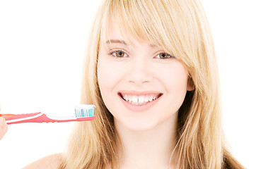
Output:
[[[127,102],[127,101],[124,101],[124,99],[122,99],[122,97],[120,96],[120,99],[121,99],[122,103],[123,103],[124,106],[125,106],[126,108],[128,108],[130,111],[147,111],[147,110],[149,110],[149,108],[151,108],[152,106],[154,106],[154,105],[158,102],[158,100],[159,100],[160,98],[161,98],[161,96],[158,97],[158,99],[156,99],[156,100],[153,100],[153,101],[148,102],[147,104],[134,105],[134,104],[129,104],[129,102]]]

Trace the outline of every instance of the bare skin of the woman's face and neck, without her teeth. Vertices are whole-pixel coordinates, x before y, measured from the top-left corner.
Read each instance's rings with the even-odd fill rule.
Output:
[[[100,48],[98,84],[122,140],[120,167],[173,168],[178,109],[193,89],[187,70],[154,44],[127,34],[128,44],[115,23],[110,23],[110,41]],[[159,97],[134,106],[124,95]]]

